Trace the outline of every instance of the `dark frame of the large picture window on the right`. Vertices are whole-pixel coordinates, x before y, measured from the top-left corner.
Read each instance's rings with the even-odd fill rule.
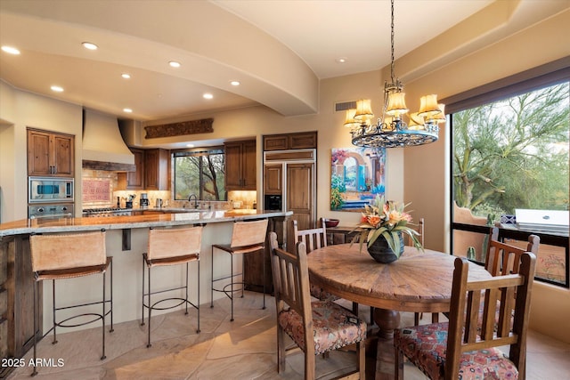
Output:
[[[550,85],[570,82],[570,57],[564,57],[557,61],[544,64],[542,66],[528,69],[521,73],[510,77],[505,77],[492,83],[481,85],[463,93],[453,95],[442,100],[445,104],[445,113],[452,115],[464,109],[476,108],[480,105],[501,101],[509,97],[517,96],[522,93],[528,93]],[[450,131],[453,130],[452,117],[448,118]],[[450,133],[452,136],[452,133]],[[453,162],[453,139],[450,137],[450,165]],[[450,186],[453,186],[452,167],[449,170]],[[453,189],[449,189],[450,201],[450,242],[453,247],[453,231],[466,230],[475,233],[488,234],[491,226],[471,225],[454,221],[453,215]],[[544,232],[528,232],[521,230],[500,229],[499,239],[517,239],[525,241],[530,234],[534,233],[541,238],[541,244],[565,247],[566,250],[566,279],[564,283],[535,277],[537,281],[546,282],[557,287],[570,288],[570,238],[567,236],[544,233]]]

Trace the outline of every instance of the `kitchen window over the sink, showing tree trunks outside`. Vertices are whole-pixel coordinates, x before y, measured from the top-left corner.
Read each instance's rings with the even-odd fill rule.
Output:
[[[176,151],[175,199],[226,200],[224,149]]]

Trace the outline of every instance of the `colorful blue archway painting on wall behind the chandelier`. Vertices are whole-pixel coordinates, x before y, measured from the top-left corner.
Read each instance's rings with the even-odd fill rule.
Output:
[[[378,194],[385,193],[385,149],[333,149],[331,165],[331,210],[361,211]]]

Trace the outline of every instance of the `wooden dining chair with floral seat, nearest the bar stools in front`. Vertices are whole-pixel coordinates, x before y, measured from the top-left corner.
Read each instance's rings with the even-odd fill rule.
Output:
[[[291,254],[278,247],[277,234],[269,235],[275,306],[277,308],[277,372],[285,370],[285,337],[305,353],[305,379],[314,379],[316,355],[356,345],[357,368],[364,378],[366,322],[330,301],[312,301],[304,242]]]

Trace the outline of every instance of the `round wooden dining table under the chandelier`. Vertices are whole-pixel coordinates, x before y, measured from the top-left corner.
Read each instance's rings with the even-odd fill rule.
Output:
[[[327,292],[384,311],[375,321],[381,334],[390,335],[392,311],[444,312],[450,310],[455,256],[405,247],[394,263],[377,263],[358,244],[315,249],[307,255],[311,283]],[[485,268],[469,265],[469,279],[491,277]],[[398,314],[399,316],[399,314]],[[395,321],[391,321],[395,324]],[[382,331],[382,329],[387,331]]]

